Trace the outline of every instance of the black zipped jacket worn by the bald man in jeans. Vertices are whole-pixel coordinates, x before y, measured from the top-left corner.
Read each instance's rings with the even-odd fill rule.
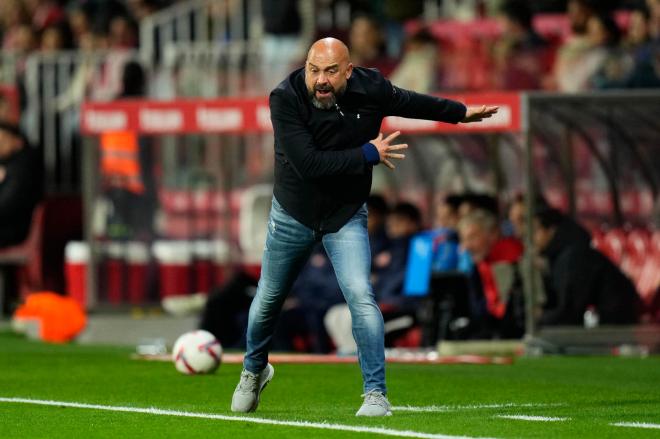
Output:
[[[275,198],[307,227],[336,232],[367,200],[371,165],[362,145],[378,136],[385,116],[458,123],[465,113],[459,102],[400,89],[361,67],[353,69],[336,108],[319,110],[304,70],[296,70],[270,94]]]

